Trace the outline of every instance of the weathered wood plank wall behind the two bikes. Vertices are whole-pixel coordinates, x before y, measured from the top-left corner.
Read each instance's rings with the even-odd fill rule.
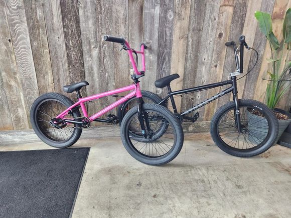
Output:
[[[120,45],[104,42],[105,34],[124,37],[132,48],[148,45],[141,87],[161,95],[166,91],[154,81],[174,73],[180,78],[172,90],[227,79],[234,57],[224,44],[244,34],[259,59],[252,73],[238,81],[239,95],[263,101],[269,47],[254,12],[271,13],[273,31],[281,38],[290,5],[291,0],[0,0],[0,130],[31,128],[33,101],[46,92],[66,95],[63,85],[86,80],[90,85],[82,94],[92,95],[131,83],[127,54],[118,51]],[[245,52],[245,71],[255,60]],[[178,108],[189,108],[219,89],[177,97]],[[291,91],[281,108],[290,106],[290,96]],[[114,100],[89,104],[89,113]],[[200,121],[209,121],[229,100],[227,95],[200,109]]]

